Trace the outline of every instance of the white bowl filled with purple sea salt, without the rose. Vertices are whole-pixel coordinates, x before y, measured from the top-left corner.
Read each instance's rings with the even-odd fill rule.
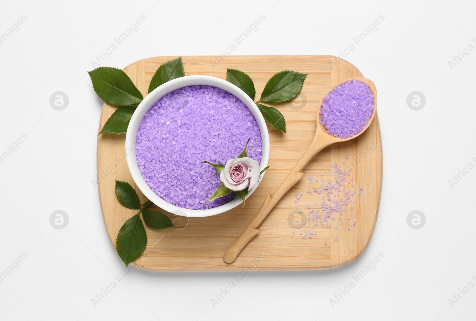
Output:
[[[134,112],[126,146],[135,148],[127,163],[139,189],[160,208],[182,216],[215,215],[242,201],[232,193],[205,206],[221,182],[203,161],[224,164],[248,138],[248,156],[262,170],[268,165],[268,129],[251,98],[220,78],[181,77],[153,90]]]

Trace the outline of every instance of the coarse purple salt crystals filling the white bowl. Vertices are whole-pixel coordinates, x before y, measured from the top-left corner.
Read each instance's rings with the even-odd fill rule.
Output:
[[[167,121],[164,121],[167,120]],[[242,151],[261,161],[258,123],[248,107],[223,89],[189,86],[161,97],[145,114],[136,138],[136,159],[147,185],[164,201],[202,209],[221,184],[215,169]],[[212,177],[210,177],[212,176]],[[233,200],[234,193],[205,208]]]

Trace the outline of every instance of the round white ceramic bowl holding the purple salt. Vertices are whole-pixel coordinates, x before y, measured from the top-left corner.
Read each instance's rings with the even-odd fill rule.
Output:
[[[204,217],[204,216],[211,216],[226,212],[231,210],[238,204],[241,204],[243,201],[241,198],[235,198],[231,202],[227,204],[223,204],[214,208],[208,208],[204,210],[190,210],[183,207],[178,207],[176,205],[170,204],[163,199],[161,199],[157,194],[155,194],[147,185],[146,181],[142,177],[139,171],[139,166],[137,165],[136,159],[136,136],[137,131],[139,129],[140,122],[147,111],[152,107],[152,105],[159,100],[161,97],[165,96],[171,91],[177,90],[179,88],[187,87],[187,86],[195,86],[195,85],[207,85],[213,86],[217,88],[221,88],[223,90],[228,91],[230,94],[235,95],[238,97],[245,105],[251,110],[251,113],[255,117],[259,130],[261,131],[261,139],[263,142],[263,151],[261,155],[261,163],[259,165],[260,170],[263,170],[266,166],[268,166],[268,159],[269,159],[269,136],[268,136],[268,127],[266,126],[265,120],[261,115],[256,104],[253,100],[248,97],[248,95],[238,88],[237,86],[233,85],[232,83],[225,81],[220,78],[211,77],[211,76],[186,76],[180,77],[173,80],[166,82],[165,84],[155,88],[149,95],[147,95],[144,100],[142,100],[137,107],[136,111],[132,115],[130,119],[129,126],[127,127],[127,134],[126,134],[126,148],[129,146],[134,146],[133,152],[129,153],[126,156],[127,165],[129,166],[130,174],[134,179],[134,182],[139,186],[140,191],[150,200],[152,203],[156,204],[160,208],[181,216],[188,216],[188,217]],[[264,175],[264,173],[263,173]],[[263,177],[260,176],[260,181]],[[255,189],[258,185],[255,185],[248,193],[247,198],[253,194]]]

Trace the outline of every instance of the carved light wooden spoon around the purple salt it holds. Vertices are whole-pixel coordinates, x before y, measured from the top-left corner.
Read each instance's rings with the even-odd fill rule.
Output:
[[[375,88],[374,83],[367,78],[356,77],[356,78],[347,79],[343,82],[353,80],[353,79],[360,80],[366,83],[370,87],[369,89],[372,92],[372,94],[374,94],[375,96],[374,112],[372,113],[372,116],[368,120],[367,125],[362,129],[362,131],[360,131],[360,133],[352,137],[348,137],[348,138],[336,137],[327,133],[327,130],[324,128],[324,126],[322,126],[322,124],[319,124],[318,120],[320,119],[320,115],[317,112],[318,120],[317,120],[316,135],[314,136],[314,139],[312,140],[311,145],[304,152],[304,155],[301,156],[301,158],[297,161],[294,168],[288,174],[288,176],[283,181],[283,183],[279,185],[276,191],[272,195],[268,194],[263,204],[259,208],[258,213],[251,220],[251,222],[245,228],[243,233],[241,233],[238,239],[233,244],[231,244],[231,246],[228,248],[225,255],[223,255],[223,260],[226,263],[232,263],[233,261],[235,261],[238,254],[241,252],[241,250],[243,250],[246,244],[248,244],[248,242],[251,241],[251,239],[259,233],[259,229],[258,229],[259,225],[264,221],[268,213],[274,208],[274,206],[278,203],[281,197],[283,197],[283,195],[285,195],[286,192],[288,192],[288,190],[292,186],[294,186],[299,181],[299,179],[301,179],[302,175],[304,175],[304,173],[302,173],[301,170],[304,168],[307,162],[309,162],[312,159],[312,157],[314,157],[317,153],[319,153],[323,148],[333,143],[345,142],[349,139],[359,136],[368,128],[368,126],[370,126],[370,123],[372,123],[372,120],[374,119],[375,113],[377,111],[377,89]],[[336,88],[337,86],[340,86],[343,82],[337,84],[334,88]],[[319,109],[321,108],[321,106],[322,106],[322,100],[319,104]]]

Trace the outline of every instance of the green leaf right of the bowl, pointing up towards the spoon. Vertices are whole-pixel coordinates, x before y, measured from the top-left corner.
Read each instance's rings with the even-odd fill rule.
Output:
[[[278,72],[268,80],[259,100],[265,103],[279,103],[296,97],[306,76],[307,74],[296,71]]]

